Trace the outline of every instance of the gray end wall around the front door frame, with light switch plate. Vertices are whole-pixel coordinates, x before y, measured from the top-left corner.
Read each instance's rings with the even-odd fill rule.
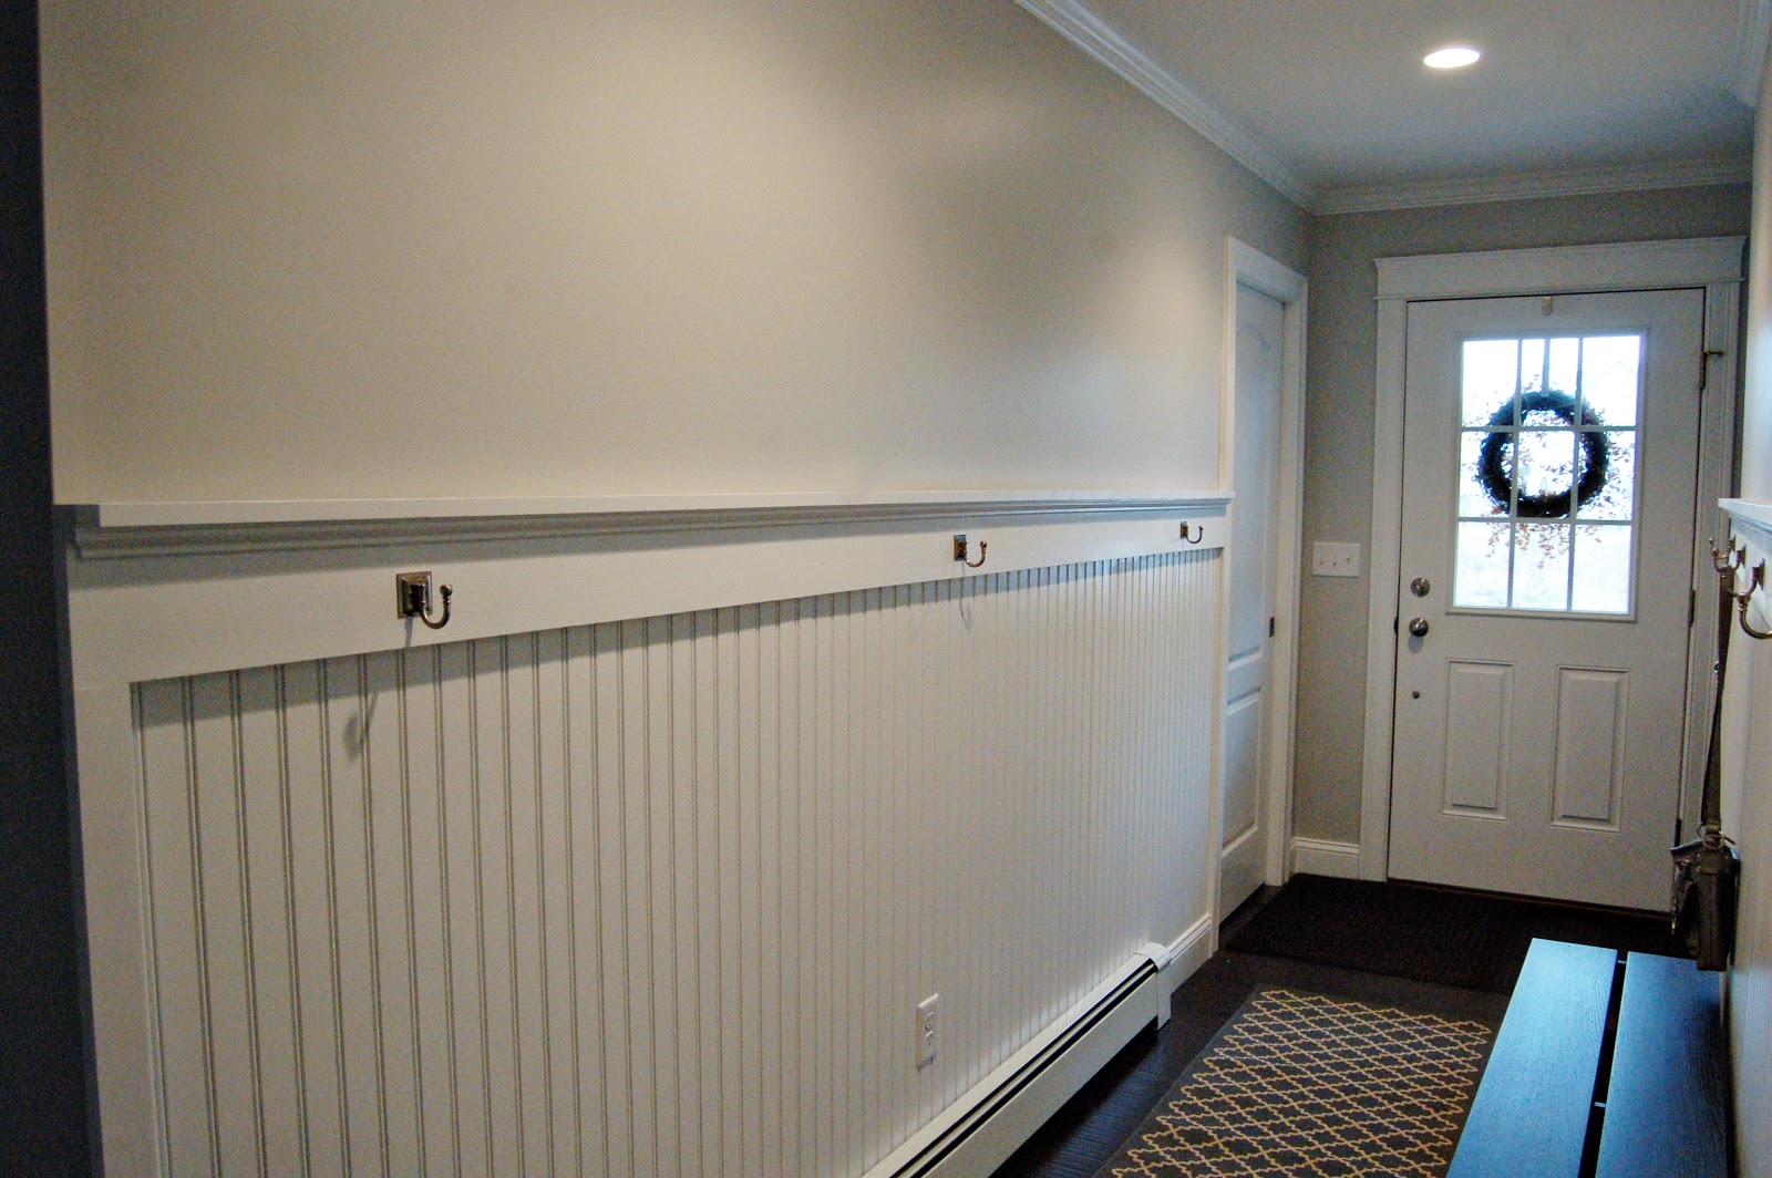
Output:
[[[1359,840],[1377,353],[1373,259],[1712,237],[1745,234],[1747,221],[1747,184],[1356,213],[1313,221],[1294,799],[1299,836]],[[1361,576],[1310,576],[1313,540],[1356,540]]]

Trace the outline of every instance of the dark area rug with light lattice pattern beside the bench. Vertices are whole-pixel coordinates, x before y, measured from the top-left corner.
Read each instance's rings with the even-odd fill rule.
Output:
[[[1099,1178],[1442,1178],[1492,1033],[1260,990]]]

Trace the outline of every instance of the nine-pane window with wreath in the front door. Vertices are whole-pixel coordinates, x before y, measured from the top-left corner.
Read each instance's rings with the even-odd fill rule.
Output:
[[[1630,613],[1641,335],[1465,340],[1453,606]]]

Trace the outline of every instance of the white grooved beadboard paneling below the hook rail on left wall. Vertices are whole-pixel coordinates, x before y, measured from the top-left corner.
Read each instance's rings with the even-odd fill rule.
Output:
[[[158,1169],[865,1173],[1209,916],[1219,577],[136,684]]]

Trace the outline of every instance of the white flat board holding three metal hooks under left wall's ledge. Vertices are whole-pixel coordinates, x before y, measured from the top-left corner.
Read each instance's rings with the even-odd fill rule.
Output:
[[[1198,544],[1182,540],[1180,517],[1170,512],[1083,523],[980,523],[975,515],[950,515],[870,526],[783,524],[739,535],[703,524],[670,533],[480,539],[447,546],[418,533],[333,551],[184,549],[133,560],[94,556],[73,546],[69,661],[74,682],[85,687],[133,684],[1224,546],[1223,505],[1185,512],[1205,530]],[[982,569],[966,569],[953,558],[955,531],[989,544]],[[447,629],[427,631],[395,616],[393,576],[420,569],[434,570],[438,583],[455,590]]]

